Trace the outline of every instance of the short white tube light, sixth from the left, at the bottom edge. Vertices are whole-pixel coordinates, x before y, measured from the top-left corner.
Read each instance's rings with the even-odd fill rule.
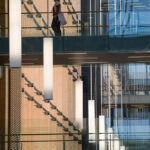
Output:
[[[114,132],[112,128],[108,128],[108,150],[114,150]]]

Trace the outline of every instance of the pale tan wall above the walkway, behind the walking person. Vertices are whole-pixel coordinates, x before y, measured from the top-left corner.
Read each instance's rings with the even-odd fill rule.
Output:
[[[67,1],[67,0],[66,0]],[[33,0],[35,6],[37,7],[39,12],[47,12],[47,0]],[[61,6],[62,6],[62,12],[68,12],[67,5],[63,5],[63,0],[60,1]],[[81,11],[81,0],[71,0],[73,7],[76,11]],[[32,5],[27,4],[27,1],[24,2],[30,12],[35,12],[34,8]],[[52,12],[52,8],[54,5],[53,0],[49,0],[49,11]],[[68,5],[70,10],[72,11],[72,6]],[[24,5],[22,5],[22,12],[26,13],[27,11],[24,8]],[[66,14],[64,13],[64,16],[67,20],[67,26],[76,26],[72,24],[72,16],[71,14]],[[76,15],[73,15],[74,18],[76,19]],[[42,17],[44,20],[47,22],[47,14],[43,13]],[[37,18],[36,15],[34,15],[34,18],[37,20],[37,22],[41,25],[44,26],[44,24],[41,21],[41,18]],[[49,15],[49,26],[51,26],[52,22],[52,13]],[[81,19],[81,15],[79,14],[79,20]],[[32,18],[27,18],[26,14],[22,15],[22,27],[36,27],[35,23],[33,22]],[[47,33],[47,29],[42,29],[45,33]],[[53,31],[52,31],[53,32]],[[63,33],[63,30],[62,30]],[[42,36],[41,30],[37,30],[35,28],[32,29],[23,29],[22,30],[22,35],[23,36]],[[65,28],[65,35],[78,35],[77,33],[77,27],[71,27],[71,28]]]

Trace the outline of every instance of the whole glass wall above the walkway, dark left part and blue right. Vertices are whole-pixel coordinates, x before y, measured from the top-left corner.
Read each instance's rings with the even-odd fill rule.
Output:
[[[150,34],[147,0],[82,0],[83,33],[87,35],[145,36]],[[89,28],[86,28],[89,26]]]

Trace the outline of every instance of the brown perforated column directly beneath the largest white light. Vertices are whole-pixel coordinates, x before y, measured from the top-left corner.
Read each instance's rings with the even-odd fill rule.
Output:
[[[21,133],[21,69],[9,70],[8,133]],[[20,136],[9,136],[9,150],[19,150]]]

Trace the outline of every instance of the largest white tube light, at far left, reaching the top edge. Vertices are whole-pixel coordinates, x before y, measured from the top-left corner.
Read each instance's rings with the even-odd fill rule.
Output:
[[[21,67],[21,0],[9,0],[9,61],[11,68]]]

